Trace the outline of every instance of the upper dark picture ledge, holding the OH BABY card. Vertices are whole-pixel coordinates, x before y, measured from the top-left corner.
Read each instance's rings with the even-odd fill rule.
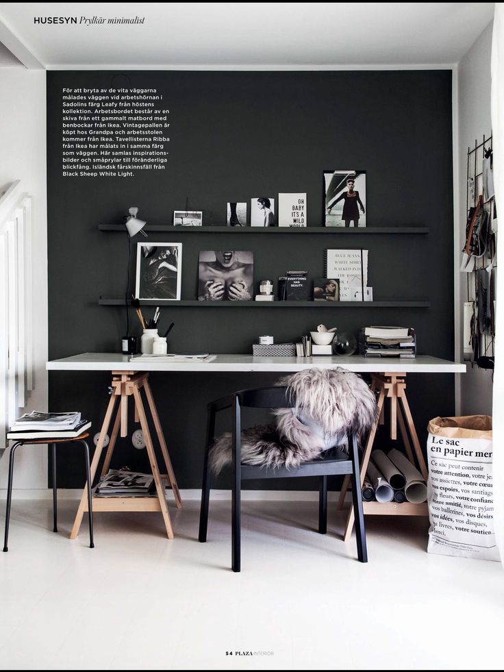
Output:
[[[99,224],[100,231],[125,232],[123,224]],[[173,224],[147,225],[144,231],[162,233],[173,231],[178,234],[428,234],[427,226],[368,226],[346,229],[342,226],[308,226],[308,227],[262,227],[262,226],[173,226]]]

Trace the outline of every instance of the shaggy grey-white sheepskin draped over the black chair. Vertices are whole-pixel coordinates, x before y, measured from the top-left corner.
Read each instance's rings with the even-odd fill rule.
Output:
[[[242,464],[297,468],[338,446],[348,451],[347,432],[362,434],[375,422],[375,395],[364,380],[345,369],[308,369],[285,376],[294,408],[274,411],[275,423],[242,431]],[[216,439],[210,452],[212,471],[231,464],[231,433]]]

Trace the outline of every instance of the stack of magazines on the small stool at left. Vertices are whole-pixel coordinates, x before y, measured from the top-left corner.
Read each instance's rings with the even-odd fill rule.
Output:
[[[31,411],[12,423],[8,438],[73,438],[90,426],[91,423],[83,420],[78,412]]]

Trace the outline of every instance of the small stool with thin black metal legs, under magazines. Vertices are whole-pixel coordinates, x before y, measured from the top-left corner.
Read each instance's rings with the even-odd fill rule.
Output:
[[[3,542],[3,552],[5,553],[8,551],[8,536],[9,536],[9,519],[10,519],[10,504],[12,500],[12,480],[14,476],[14,453],[16,452],[16,449],[19,446],[24,446],[24,445],[49,445],[51,444],[52,446],[52,451],[53,451],[53,515],[54,515],[54,528],[53,532],[58,532],[58,501],[57,501],[57,488],[56,488],[56,444],[57,443],[81,443],[84,446],[84,452],[86,455],[86,481],[88,484],[88,510],[89,510],[89,547],[90,548],[95,548],[95,544],[93,543],[93,537],[92,537],[92,497],[91,497],[91,476],[90,476],[90,469],[89,469],[89,447],[88,443],[86,442],[86,438],[88,438],[89,434],[80,434],[79,436],[73,436],[71,438],[58,438],[58,432],[54,433],[54,436],[51,436],[51,438],[40,438],[40,439],[34,439],[34,438],[25,438],[25,439],[18,439],[16,440],[16,443],[12,446],[10,449],[10,457],[9,457],[9,484],[7,487],[7,508],[5,510],[5,540]],[[9,434],[7,434],[7,438],[9,439]]]

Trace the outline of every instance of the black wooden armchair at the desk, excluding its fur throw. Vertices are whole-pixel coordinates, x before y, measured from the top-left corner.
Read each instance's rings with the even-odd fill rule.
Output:
[[[216,413],[231,408],[232,424],[232,521],[231,521],[231,566],[233,571],[240,571],[240,534],[241,534],[241,486],[242,481],[262,478],[290,478],[298,476],[318,476],[320,478],[318,500],[318,532],[327,532],[327,476],[350,474],[352,482],[353,510],[355,513],[355,534],[357,537],[357,558],[367,562],[366,535],[364,531],[364,514],[360,488],[359,452],[357,436],[348,434],[349,456],[340,451],[339,456],[327,459],[303,462],[297,469],[268,469],[264,466],[250,466],[241,463],[241,426],[242,408],[293,408],[295,401],[290,399],[286,388],[270,387],[255,390],[242,390],[212,401],[207,406],[207,436],[205,461],[203,466],[203,487],[201,492],[201,511],[199,517],[199,540],[207,540],[208,506],[210,503],[210,460],[215,434]]]

